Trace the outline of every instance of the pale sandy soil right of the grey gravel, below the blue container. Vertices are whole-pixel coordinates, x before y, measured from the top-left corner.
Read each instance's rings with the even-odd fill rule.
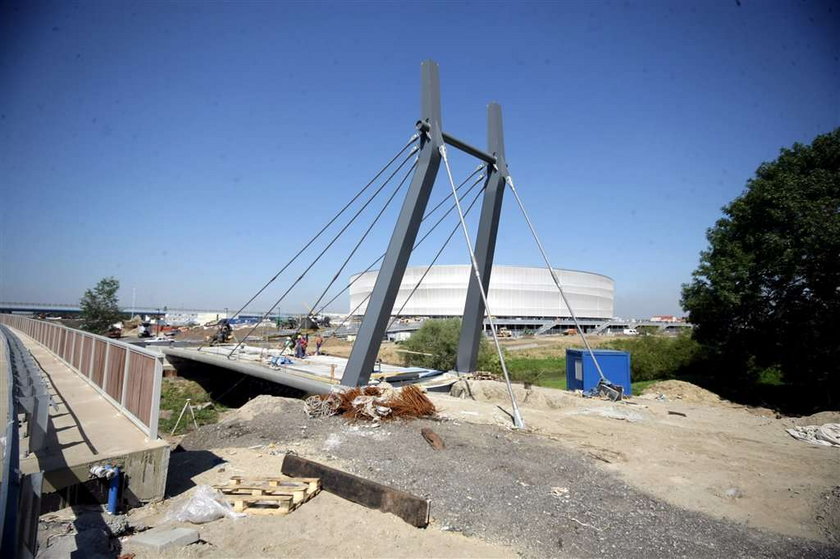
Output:
[[[456,390],[465,399],[436,399],[441,414],[503,421],[498,409],[469,394],[507,406],[504,385],[470,385],[469,393]],[[619,403],[539,387],[516,392],[532,432],[596,458],[605,470],[668,503],[789,536],[840,537],[840,525],[819,513],[825,495],[840,486],[840,449],[803,444],[785,432],[793,425],[838,422],[840,412],[777,418],[682,381],[656,383],[642,397]],[[840,503],[835,506],[840,510]]]

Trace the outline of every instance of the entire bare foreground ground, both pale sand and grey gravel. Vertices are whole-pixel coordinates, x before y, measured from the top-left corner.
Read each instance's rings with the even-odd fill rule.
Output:
[[[171,499],[130,521],[176,525],[166,513],[196,484],[274,475],[293,452],[430,498],[431,525],[415,529],[322,493],[284,517],[201,525],[202,543],[163,556],[840,554],[840,452],[784,432],[808,418],[777,419],[681,385],[625,403],[517,387],[527,423],[519,431],[504,385],[461,383],[454,394],[432,396],[437,420],[381,426],[310,419],[299,400],[260,396],[183,438]],[[423,427],[446,448],[432,449]],[[150,556],[130,539],[122,550]]]

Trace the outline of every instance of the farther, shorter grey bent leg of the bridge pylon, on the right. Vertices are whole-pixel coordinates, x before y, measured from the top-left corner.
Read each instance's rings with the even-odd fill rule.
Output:
[[[499,231],[499,216],[502,211],[502,197],[505,193],[505,177],[508,174],[505,161],[505,140],[502,130],[502,107],[498,103],[487,106],[487,144],[496,164],[488,165],[487,188],[481,202],[481,221],[475,239],[475,260],[481,275],[484,292],[489,293],[490,273],[493,269],[493,254],[496,250],[496,234]],[[461,373],[475,371],[478,360],[478,346],[484,335],[484,301],[478,280],[470,274],[464,318],[461,324],[461,339],[458,342],[458,357],[455,369]]]

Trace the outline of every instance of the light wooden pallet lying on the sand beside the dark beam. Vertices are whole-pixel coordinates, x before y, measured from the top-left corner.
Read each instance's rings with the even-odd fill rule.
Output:
[[[226,485],[214,485],[236,512],[288,514],[321,491],[318,478],[288,476],[247,479],[233,476]]]

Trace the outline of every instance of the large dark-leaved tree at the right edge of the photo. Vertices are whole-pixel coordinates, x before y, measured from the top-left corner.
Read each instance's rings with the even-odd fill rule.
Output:
[[[782,149],[723,213],[683,285],[696,339],[746,380],[780,370],[836,403],[840,128]]]

